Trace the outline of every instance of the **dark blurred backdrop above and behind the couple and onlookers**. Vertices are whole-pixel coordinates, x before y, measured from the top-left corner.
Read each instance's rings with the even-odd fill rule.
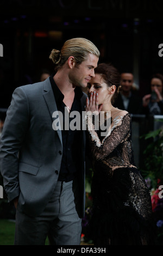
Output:
[[[0,108],[14,89],[53,72],[49,54],[68,39],[84,37],[101,51],[99,62],[130,71],[140,96],[155,72],[163,74],[163,1],[0,0]]]

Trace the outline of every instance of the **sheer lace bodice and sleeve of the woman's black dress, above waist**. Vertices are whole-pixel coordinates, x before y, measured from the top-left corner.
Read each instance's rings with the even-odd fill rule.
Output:
[[[91,151],[95,160],[103,161],[110,168],[134,166],[133,151],[131,148],[131,120],[129,113],[117,115],[111,121],[108,135],[100,136],[101,130],[95,131],[90,116],[87,118],[87,131]]]

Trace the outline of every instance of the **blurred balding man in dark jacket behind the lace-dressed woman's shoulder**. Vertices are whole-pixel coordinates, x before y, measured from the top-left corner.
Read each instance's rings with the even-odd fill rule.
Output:
[[[131,114],[141,114],[142,100],[136,95],[133,83],[133,74],[130,72],[121,74],[121,91],[115,100],[114,107],[126,110]]]

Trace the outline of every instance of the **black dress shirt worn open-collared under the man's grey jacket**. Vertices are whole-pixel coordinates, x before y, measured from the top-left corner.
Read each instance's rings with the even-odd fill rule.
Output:
[[[65,127],[65,103],[64,95],[61,93],[60,89],[58,88],[57,84],[54,82],[53,76],[49,77],[49,80],[51,81],[55,101],[57,104],[58,111],[62,112],[63,115],[63,128]],[[74,89],[74,100],[71,107],[72,111],[78,111],[80,113],[80,117],[82,117],[82,109],[80,105],[80,98],[83,95],[82,90],[79,87],[76,87]],[[66,110],[67,111],[67,110]],[[67,117],[67,114],[66,114]],[[71,123],[73,118],[69,118],[69,124]],[[60,181],[71,181],[73,180],[74,176],[76,176],[79,166],[80,166],[80,160],[82,157],[82,122],[80,120],[80,130],[71,130],[69,126],[69,130],[62,129],[62,145],[63,145],[63,151],[62,151],[62,161],[61,161],[61,167],[60,167],[60,173],[58,180]]]

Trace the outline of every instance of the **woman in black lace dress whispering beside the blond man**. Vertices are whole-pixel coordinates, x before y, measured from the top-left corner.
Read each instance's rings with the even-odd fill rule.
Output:
[[[95,245],[151,245],[151,196],[134,163],[130,115],[112,106],[119,81],[114,66],[103,63],[87,84],[86,124],[93,159],[90,229]],[[105,123],[111,114],[111,130],[105,137],[94,129],[90,115],[100,111]]]

